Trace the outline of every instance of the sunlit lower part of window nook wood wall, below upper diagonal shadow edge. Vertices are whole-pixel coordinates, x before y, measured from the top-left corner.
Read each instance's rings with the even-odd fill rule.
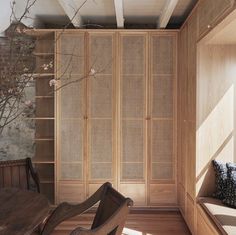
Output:
[[[234,160],[234,85],[224,94],[197,130],[197,196],[212,196],[212,160]]]

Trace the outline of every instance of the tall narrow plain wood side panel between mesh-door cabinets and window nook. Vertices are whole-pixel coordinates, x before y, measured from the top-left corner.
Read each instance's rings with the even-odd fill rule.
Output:
[[[178,203],[192,233],[196,188],[196,60],[197,17],[179,35],[178,73]]]

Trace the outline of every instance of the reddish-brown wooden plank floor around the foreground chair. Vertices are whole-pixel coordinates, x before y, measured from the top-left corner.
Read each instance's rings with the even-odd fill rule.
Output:
[[[89,227],[93,214],[75,217],[59,225],[53,235],[68,235],[74,227]],[[128,216],[123,235],[190,235],[179,212],[134,212]]]

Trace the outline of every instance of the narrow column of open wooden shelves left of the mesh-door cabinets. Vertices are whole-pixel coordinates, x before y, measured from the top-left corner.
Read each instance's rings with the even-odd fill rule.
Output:
[[[54,91],[49,81],[54,78],[54,33],[37,35],[35,79],[35,157],[41,193],[55,203],[54,193]]]

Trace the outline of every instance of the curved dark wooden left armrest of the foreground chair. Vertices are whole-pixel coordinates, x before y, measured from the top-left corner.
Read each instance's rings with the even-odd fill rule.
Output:
[[[106,192],[107,187],[111,187],[111,184],[106,183],[102,185],[91,197],[80,204],[72,205],[67,202],[59,204],[46,221],[42,231],[42,235],[51,234],[54,228],[62,221],[87,211],[89,208],[91,208],[101,200],[101,197],[104,192]]]

